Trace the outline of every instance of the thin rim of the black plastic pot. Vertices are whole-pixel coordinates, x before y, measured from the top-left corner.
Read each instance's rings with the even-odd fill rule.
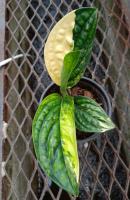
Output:
[[[86,82],[89,82],[90,84],[93,84],[94,86],[96,86],[96,88],[98,90],[100,90],[100,92],[102,93],[102,95],[104,96],[105,100],[106,100],[106,103],[107,103],[107,106],[108,106],[108,116],[110,117],[111,116],[111,102],[110,102],[110,98],[107,94],[107,92],[105,91],[105,89],[99,85],[99,83],[97,83],[96,81],[90,79],[90,78],[87,78],[87,77],[82,77],[80,80],[83,80],[83,81],[86,81]],[[42,99],[44,98],[46,92],[53,86],[53,85],[56,85],[54,82],[51,82],[47,87],[46,89],[44,90],[41,98],[40,98],[40,102],[42,101]],[[88,136],[88,138],[86,139],[77,139],[77,142],[78,144],[85,144],[91,140],[94,140],[96,138],[98,138],[99,136],[101,136],[101,134],[103,135],[104,133],[93,133],[93,135],[91,136]]]

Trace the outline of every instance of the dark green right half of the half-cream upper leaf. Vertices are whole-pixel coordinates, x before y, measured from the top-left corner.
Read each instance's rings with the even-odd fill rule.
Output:
[[[69,78],[68,87],[78,83],[89,63],[97,26],[96,8],[81,8],[75,11],[75,26],[73,29],[74,48],[84,50],[84,56],[79,60]]]

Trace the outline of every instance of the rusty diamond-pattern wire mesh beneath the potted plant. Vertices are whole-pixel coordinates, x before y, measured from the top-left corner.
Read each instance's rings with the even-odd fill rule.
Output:
[[[17,53],[25,57],[14,60],[4,71],[4,121],[8,126],[3,140],[3,200],[75,199],[40,170],[31,124],[40,97],[51,83],[43,61],[47,36],[66,13],[85,6],[99,10],[85,76],[95,79],[108,92],[116,129],[88,145],[78,145],[77,199],[130,199],[130,29],[124,5],[119,0],[7,0],[5,57]]]

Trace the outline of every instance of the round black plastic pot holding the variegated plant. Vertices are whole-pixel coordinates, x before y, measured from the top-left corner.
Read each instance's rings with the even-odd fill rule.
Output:
[[[103,87],[101,87],[97,82],[86,77],[83,77],[77,86],[90,91],[94,95],[94,99],[102,106],[108,116],[111,116],[111,102]],[[51,83],[42,94],[41,101],[53,92],[60,93],[60,88],[56,84]],[[79,143],[86,143],[95,139],[98,135],[99,133],[84,133],[76,131]]]

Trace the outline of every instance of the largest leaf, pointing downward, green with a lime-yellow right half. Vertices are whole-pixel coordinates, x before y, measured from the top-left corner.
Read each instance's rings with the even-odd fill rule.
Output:
[[[47,96],[35,114],[32,136],[37,159],[45,174],[58,186],[77,196],[78,155],[76,140],[71,141],[72,135],[75,134],[72,118],[74,114],[64,112],[65,105],[60,95],[54,93]],[[69,109],[74,110],[71,103]],[[70,119],[69,128],[66,123],[62,124],[63,118]],[[68,137],[64,130],[67,131]],[[65,150],[64,144],[68,144],[68,148],[71,145],[73,151]]]

